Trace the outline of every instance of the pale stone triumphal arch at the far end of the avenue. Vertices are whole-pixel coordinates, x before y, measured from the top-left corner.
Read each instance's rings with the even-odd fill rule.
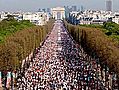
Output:
[[[63,7],[56,7],[51,8],[51,14],[54,19],[65,19],[65,8]]]

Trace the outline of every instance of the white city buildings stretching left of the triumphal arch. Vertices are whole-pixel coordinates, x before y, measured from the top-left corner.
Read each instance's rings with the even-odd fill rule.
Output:
[[[16,20],[29,20],[30,22],[36,25],[45,25],[47,21],[49,21],[50,15],[45,12],[1,12],[0,13],[0,21],[8,18],[8,15],[12,15]]]

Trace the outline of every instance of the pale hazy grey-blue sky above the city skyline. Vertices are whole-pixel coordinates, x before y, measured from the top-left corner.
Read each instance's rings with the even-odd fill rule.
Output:
[[[0,0],[0,11],[37,11],[38,8],[64,5],[105,10],[105,0]],[[119,11],[119,0],[113,0],[113,10]]]

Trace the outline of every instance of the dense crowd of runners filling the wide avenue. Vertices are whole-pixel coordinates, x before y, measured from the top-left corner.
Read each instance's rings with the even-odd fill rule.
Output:
[[[18,90],[118,90],[116,74],[87,55],[61,20],[17,79]]]

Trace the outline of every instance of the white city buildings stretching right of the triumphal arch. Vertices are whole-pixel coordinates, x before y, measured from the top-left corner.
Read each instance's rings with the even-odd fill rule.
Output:
[[[71,24],[100,24],[112,21],[118,23],[119,15],[113,14],[113,12],[102,10],[85,10],[80,12],[70,12],[68,21]]]

